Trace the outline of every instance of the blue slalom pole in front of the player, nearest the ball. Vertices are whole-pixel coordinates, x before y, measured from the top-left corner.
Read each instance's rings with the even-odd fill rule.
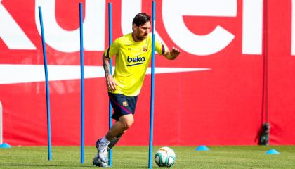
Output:
[[[148,151],[148,168],[152,168],[152,139],[154,130],[154,99],[155,99],[155,14],[156,1],[152,1],[152,77],[150,89],[150,144]]]

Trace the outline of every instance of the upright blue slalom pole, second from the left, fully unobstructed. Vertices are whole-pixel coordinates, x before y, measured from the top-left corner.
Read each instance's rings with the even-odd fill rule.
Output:
[[[83,5],[79,3],[80,16],[80,67],[81,67],[81,163],[84,163],[84,47],[83,47]]]

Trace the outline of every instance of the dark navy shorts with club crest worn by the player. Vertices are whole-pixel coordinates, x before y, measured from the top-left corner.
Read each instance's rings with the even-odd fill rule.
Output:
[[[114,109],[114,113],[112,114],[114,120],[119,121],[122,115],[134,115],[138,96],[108,93],[112,108]]]

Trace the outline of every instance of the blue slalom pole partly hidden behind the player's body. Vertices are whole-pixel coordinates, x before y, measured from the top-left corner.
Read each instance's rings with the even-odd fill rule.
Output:
[[[109,13],[109,46],[112,45],[112,3],[108,3]],[[112,59],[110,59],[110,73],[112,74]],[[112,127],[112,104],[109,101],[109,129]],[[112,149],[109,151],[109,166],[112,166]]]

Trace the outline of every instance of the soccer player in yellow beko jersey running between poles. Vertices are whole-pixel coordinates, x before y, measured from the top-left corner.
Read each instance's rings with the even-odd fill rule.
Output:
[[[112,149],[122,134],[134,122],[136,101],[143,85],[145,72],[152,58],[152,36],[150,34],[150,15],[138,13],[132,22],[133,32],[116,39],[103,54],[103,68],[108,95],[114,109],[112,125],[105,137],[98,139],[98,154],[93,158],[93,165],[107,167],[107,151]],[[155,41],[155,51],[169,60],[175,59],[179,49],[171,51]],[[116,57],[114,75],[110,73],[110,58]]]

